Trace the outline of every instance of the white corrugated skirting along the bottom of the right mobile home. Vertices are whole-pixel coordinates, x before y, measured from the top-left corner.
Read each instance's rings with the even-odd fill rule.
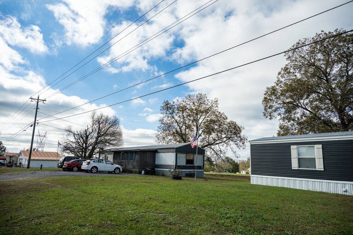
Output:
[[[319,182],[305,179],[279,179],[251,175],[251,184],[353,195],[353,184],[348,183]],[[344,192],[343,188],[347,188],[347,192]]]

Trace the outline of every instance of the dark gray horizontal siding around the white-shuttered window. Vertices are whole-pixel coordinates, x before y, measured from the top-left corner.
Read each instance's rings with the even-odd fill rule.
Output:
[[[324,170],[292,169],[291,145],[322,144]],[[353,181],[353,140],[251,144],[251,174]]]

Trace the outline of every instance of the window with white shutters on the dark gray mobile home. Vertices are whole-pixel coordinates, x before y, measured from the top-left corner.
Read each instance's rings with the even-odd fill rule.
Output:
[[[292,169],[323,171],[322,145],[291,146]]]

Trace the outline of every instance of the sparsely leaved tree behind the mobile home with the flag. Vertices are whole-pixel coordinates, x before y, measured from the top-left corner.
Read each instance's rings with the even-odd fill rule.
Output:
[[[245,148],[247,137],[241,133],[244,128],[218,110],[217,99],[189,94],[183,99],[164,101],[161,113],[157,143],[189,143],[198,127],[199,146],[213,159],[224,158],[228,149],[238,156],[235,149]]]

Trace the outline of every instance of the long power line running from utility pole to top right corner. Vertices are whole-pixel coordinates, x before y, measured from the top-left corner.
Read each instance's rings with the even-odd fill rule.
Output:
[[[352,1],[353,1],[353,0],[352,0]],[[234,48],[239,47],[239,46],[241,46],[241,45],[244,45],[244,44],[246,44],[246,43],[252,42],[252,41],[254,41],[254,40],[256,40],[256,39],[259,39],[259,38],[262,38],[262,37],[264,37],[264,36],[267,36],[267,35],[269,35],[269,34],[271,34],[271,33],[274,33],[274,32],[277,32],[277,31],[279,31],[279,30],[285,29],[285,28],[287,28],[287,27],[289,27],[289,26],[292,26],[292,25],[298,24],[298,23],[300,23],[300,22],[303,22],[304,20],[307,20],[307,19],[313,18],[313,17],[318,16],[318,15],[320,15],[320,14],[323,14],[323,13],[325,13],[325,12],[331,11],[331,10],[333,10],[333,9],[337,8],[337,7],[340,7],[340,6],[346,5],[346,4],[348,4],[348,3],[352,2],[352,1],[349,1],[349,2],[346,2],[345,4],[341,4],[341,5],[339,5],[339,6],[336,6],[336,7],[330,8],[329,10],[326,10],[326,11],[323,11],[323,12],[321,12],[321,13],[315,14],[315,15],[313,15],[313,16],[307,17],[307,18],[305,18],[305,19],[303,19],[303,20],[299,20],[299,21],[297,21],[297,22],[295,22],[295,23],[289,24],[289,25],[287,25],[287,26],[285,26],[285,27],[282,27],[282,28],[280,28],[280,29],[274,30],[274,31],[269,32],[269,33],[266,33],[266,34],[264,34],[264,35],[262,35],[262,36],[259,36],[259,37],[256,37],[256,38],[254,38],[254,39],[251,39],[251,40],[249,40],[249,41],[247,41],[247,42],[244,42],[244,43],[238,44],[238,45],[236,45],[236,46],[234,46],[234,47],[228,48],[228,49],[223,50],[223,51],[220,51],[220,52],[218,52],[218,53],[216,53],[216,54],[213,54],[213,55],[207,56],[207,57],[205,57],[205,58],[202,58],[201,60],[197,60],[197,61],[195,61],[195,62],[192,62],[192,63],[186,64],[186,65],[184,65],[184,66],[182,66],[182,67],[179,67],[179,68],[173,69],[173,70],[171,70],[171,71],[169,71],[169,72],[167,72],[167,73],[164,73],[164,74],[161,74],[161,75],[155,76],[154,78],[151,78],[151,79],[148,79],[148,80],[145,80],[145,81],[139,82],[138,84],[132,85],[132,86],[130,86],[130,87],[126,87],[126,88],[124,88],[124,89],[121,89],[120,91],[116,91],[116,92],[113,92],[113,93],[111,93],[111,94],[105,95],[105,96],[103,96],[103,97],[97,98],[97,99],[95,99],[95,100],[91,100],[91,101],[89,101],[89,102],[87,102],[87,103],[84,103],[84,104],[82,104],[82,105],[89,104],[89,103],[91,103],[91,102],[97,101],[97,100],[99,100],[99,99],[103,99],[103,98],[108,97],[108,96],[110,96],[110,95],[113,95],[113,94],[119,93],[119,92],[124,91],[124,90],[126,90],[126,89],[129,89],[129,88],[131,88],[131,87],[138,86],[138,85],[140,85],[140,84],[143,84],[144,82],[151,81],[151,80],[156,79],[156,78],[158,78],[158,77],[160,77],[160,76],[163,76],[163,75],[166,75],[166,74],[169,74],[169,73],[175,72],[176,70],[179,70],[179,69],[185,68],[185,67],[187,67],[187,66],[190,66],[191,64],[195,64],[195,63],[197,63],[197,62],[203,61],[203,60],[205,60],[205,59],[207,59],[207,58],[210,58],[210,57],[212,57],[212,56],[219,55],[219,54],[221,54],[221,53],[223,53],[223,52],[225,52],[225,51],[228,51],[228,50],[234,49]],[[97,72],[97,71],[96,71],[96,72]],[[82,106],[82,105],[78,105],[78,106],[73,107],[73,108],[71,108],[71,109],[77,109],[77,107],[80,107],[80,106]],[[68,110],[71,110],[71,109],[67,109],[67,110],[65,110],[65,111],[68,111]],[[63,111],[63,112],[65,112],[65,111]],[[60,113],[60,112],[59,112],[59,113]],[[59,113],[57,113],[57,114],[59,114]]]

